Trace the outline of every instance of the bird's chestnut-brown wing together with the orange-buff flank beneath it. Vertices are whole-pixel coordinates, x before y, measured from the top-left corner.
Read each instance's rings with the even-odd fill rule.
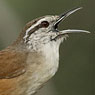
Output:
[[[13,92],[18,87],[18,76],[26,71],[26,55],[10,48],[0,51],[0,95],[19,95]]]

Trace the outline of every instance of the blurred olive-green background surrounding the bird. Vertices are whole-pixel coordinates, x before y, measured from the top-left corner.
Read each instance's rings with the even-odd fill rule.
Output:
[[[61,14],[82,6],[59,29],[85,29],[91,34],[70,34],[60,47],[55,77],[37,95],[95,95],[95,0],[0,0],[0,50],[10,45],[30,20]]]

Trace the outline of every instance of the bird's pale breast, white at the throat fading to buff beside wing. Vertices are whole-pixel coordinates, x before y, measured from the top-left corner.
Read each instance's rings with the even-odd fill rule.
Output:
[[[41,52],[29,54],[27,64],[26,95],[31,95],[55,75],[59,64],[59,47],[56,44],[46,44]]]

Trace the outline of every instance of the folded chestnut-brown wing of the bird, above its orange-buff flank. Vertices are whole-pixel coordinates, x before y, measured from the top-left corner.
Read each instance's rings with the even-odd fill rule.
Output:
[[[26,71],[27,53],[14,50],[0,51],[0,79],[13,78]]]

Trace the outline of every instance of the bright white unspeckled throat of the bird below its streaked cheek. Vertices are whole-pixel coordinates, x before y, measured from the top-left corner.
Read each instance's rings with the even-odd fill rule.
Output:
[[[44,64],[48,68],[48,73],[52,77],[55,75],[59,65],[59,45],[55,41],[45,44],[42,48],[43,56],[45,57]]]

